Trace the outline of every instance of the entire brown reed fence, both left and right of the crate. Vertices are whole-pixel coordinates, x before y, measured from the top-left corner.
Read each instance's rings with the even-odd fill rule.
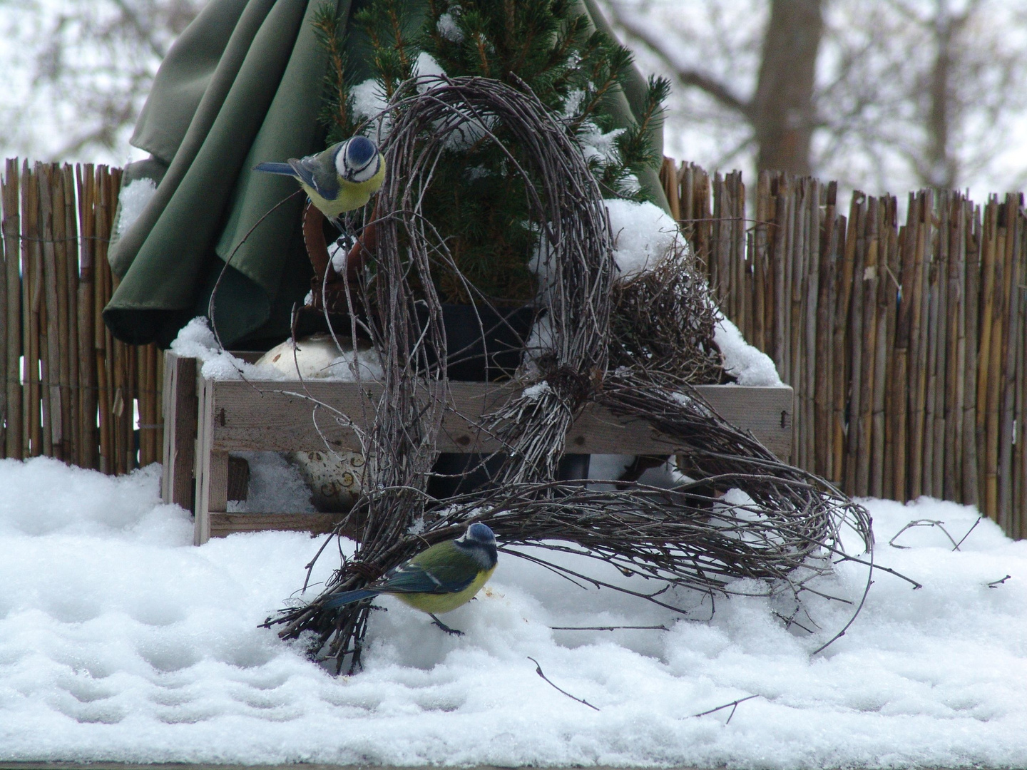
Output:
[[[675,218],[725,314],[795,388],[793,458],[854,495],[972,503],[1027,536],[1022,196],[983,206],[665,159]],[[120,169],[8,160],[0,270],[0,456],[121,473],[161,459],[163,359],[101,318]],[[26,279],[21,280],[24,276]],[[138,429],[136,414],[138,413]]]

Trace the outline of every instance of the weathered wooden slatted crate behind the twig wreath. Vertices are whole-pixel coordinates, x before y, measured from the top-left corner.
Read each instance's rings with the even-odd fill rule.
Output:
[[[197,545],[233,532],[299,530],[330,532],[338,514],[229,513],[230,452],[317,452],[359,450],[351,427],[329,409],[367,425],[381,387],[376,383],[275,380],[211,380],[194,358],[167,352],[164,365],[165,502],[194,510]],[[752,431],[781,460],[792,451],[793,392],[778,387],[700,385],[696,390],[727,421]],[[514,394],[504,384],[452,382],[453,409],[443,422],[442,452],[490,452],[494,439],[480,435],[473,422]],[[584,408],[567,435],[568,451],[579,454],[670,455],[674,439],[638,419],[619,418],[596,405]],[[195,491],[195,504],[194,504]]]

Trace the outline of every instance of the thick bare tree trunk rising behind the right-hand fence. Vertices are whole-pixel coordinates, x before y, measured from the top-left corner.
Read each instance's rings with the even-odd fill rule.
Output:
[[[811,172],[813,85],[824,33],[822,0],[771,0],[751,120],[757,170]]]

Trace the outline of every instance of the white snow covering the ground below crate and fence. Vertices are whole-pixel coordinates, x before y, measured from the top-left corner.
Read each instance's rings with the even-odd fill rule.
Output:
[[[850,607],[809,600],[811,636],[764,599],[719,600],[709,620],[709,603],[681,595],[681,619],[502,554],[479,600],[446,616],[465,637],[386,598],[365,670],[336,678],[258,627],[320,541],[194,547],[158,478],[0,461],[0,760],[1027,765],[1027,543],[982,522],[959,551],[938,527],[888,545],[911,519],[959,540],[969,508],[867,501],[878,562],[923,587],[877,573],[820,655]],[[841,565],[822,587],[855,600],[865,578]],[[730,722],[730,708],[693,717],[751,695]]]

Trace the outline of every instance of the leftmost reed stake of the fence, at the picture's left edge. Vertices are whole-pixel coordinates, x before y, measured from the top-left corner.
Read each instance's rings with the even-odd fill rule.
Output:
[[[22,281],[21,244],[22,216],[20,210],[20,180],[17,159],[8,158],[3,181],[3,239],[6,252],[5,272],[7,298],[6,357],[4,367],[4,389],[7,394],[7,432],[4,456],[22,458]]]

